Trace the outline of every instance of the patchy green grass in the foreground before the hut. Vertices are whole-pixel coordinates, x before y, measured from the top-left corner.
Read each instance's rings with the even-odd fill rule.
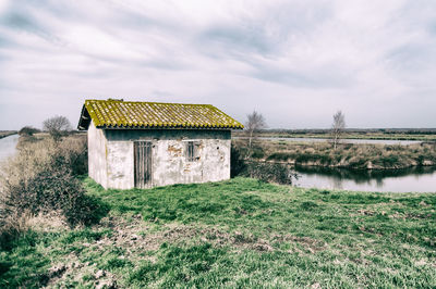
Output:
[[[24,235],[0,252],[0,287],[107,279],[134,288],[436,287],[436,194],[247,178],[124,191],[87,178],[84,186],[109,216],[90,228]],[[53,277],[58,264],[65,271]]]

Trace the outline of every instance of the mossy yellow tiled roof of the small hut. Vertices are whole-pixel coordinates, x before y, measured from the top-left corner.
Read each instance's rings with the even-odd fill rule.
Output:
[[[210,104],[86,100],[78,129],[92,118],[99,128],[231,128],[244,126]]]

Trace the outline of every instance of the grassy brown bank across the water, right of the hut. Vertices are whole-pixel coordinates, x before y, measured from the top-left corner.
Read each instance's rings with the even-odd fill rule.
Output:
[[[247,155],[247,141],[232,140],[241,155]],[[250,153],[255,161],[300,166],[342,167],[352,169],[398,169],[435,166],[436,143],[385,146],[340,143],[337,150],[328,142],[287,142],[254,140]]]

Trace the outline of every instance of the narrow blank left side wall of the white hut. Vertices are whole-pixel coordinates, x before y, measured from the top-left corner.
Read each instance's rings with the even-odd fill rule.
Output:
[[[107,184],[107,140],[105,131],[90,122],[88,128],[88,174],[95,181],[108,188]]]

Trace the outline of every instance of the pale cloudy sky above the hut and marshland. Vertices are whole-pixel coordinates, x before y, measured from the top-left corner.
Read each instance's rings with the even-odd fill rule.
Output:
[[[0,130],[107,98],[436,127],[436,1],[0,0]]]

